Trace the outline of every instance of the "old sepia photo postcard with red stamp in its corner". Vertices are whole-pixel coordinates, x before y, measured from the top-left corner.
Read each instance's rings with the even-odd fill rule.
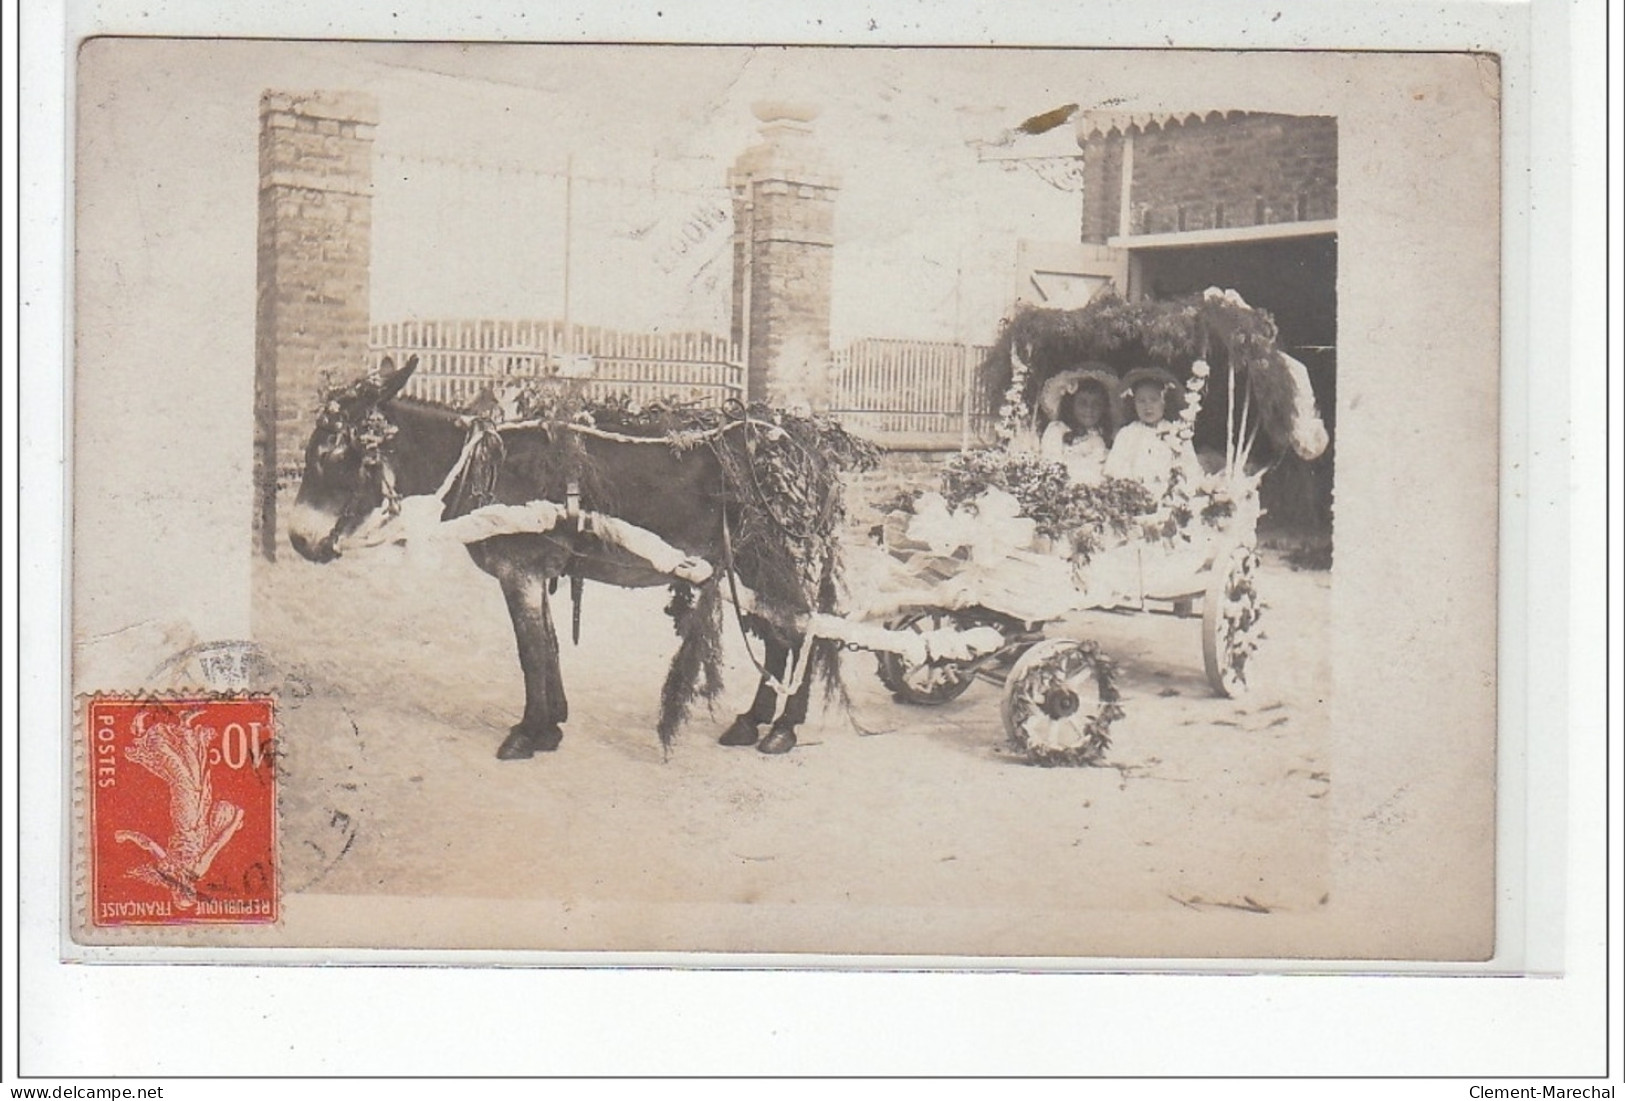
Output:
[[[76,73],[70,955],[1505,948],[1493,58]]]

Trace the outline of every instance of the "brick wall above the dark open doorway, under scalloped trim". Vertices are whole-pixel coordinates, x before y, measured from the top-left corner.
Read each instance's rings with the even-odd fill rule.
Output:
[[[1086,171],[1110,161],[1113,140],[1084,143]],[[1133,234],[1336,218],[1337,120],[1238,114],[1150,127],[1134,135],[1129,200]],[[1086,190],[1084,240],[1105,240],[1089,235],[1100,226],[1115,234],[1118,209],[1115,188]]]

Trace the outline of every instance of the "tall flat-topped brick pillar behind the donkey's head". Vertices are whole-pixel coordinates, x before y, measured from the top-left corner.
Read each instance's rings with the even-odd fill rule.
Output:
[[[278,481],[304,463],[320,378],[367,369],[377,122],[359,93],[260,97],[254,528],[273,560]]]

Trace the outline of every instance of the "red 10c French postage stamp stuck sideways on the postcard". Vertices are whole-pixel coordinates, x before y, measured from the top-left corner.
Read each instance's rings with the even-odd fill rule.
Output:
[[[88,719],[91,922],[275,922],[275,702],[98,697]]]

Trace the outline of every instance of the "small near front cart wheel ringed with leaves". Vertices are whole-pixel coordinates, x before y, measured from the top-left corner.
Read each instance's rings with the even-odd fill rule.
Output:
[[[1004,682],[1004,732],[1035,765],[1095,765],[1123,716],[1115,667],[1092,641],[1050,638]]]

